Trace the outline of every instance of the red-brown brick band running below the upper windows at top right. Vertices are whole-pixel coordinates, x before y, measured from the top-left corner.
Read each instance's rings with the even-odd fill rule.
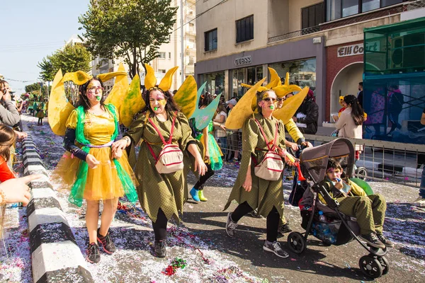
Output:
[[[268,37],[268,43],[278,42],[281,40],[289,40],[294,37],[299,37],[302,35],[310,35],[312,33],[319,33],[324,30],[329,30],[331,28],[339,28],[345,25],[351,25],[353,23],[361,23],[363,21],[373,20],[374,18],[380,18],[382,16],[390,16],[396,13],[402,13],[404,11],[411,11],[416,8],[424,8],[425,0],[417,0],[412,2],[407,2],[399,6],[390,6],[388,8],[382,8],[378,11],[370,11],[368,13],[360,13],[355,16],[348,18],[341,18],[336,21],[330,21],[327,23],[321,23],[310,28],[304,28],[302,30],[295,30],[290,33],[285,33],[283,35],[277,35],[273,37]]]

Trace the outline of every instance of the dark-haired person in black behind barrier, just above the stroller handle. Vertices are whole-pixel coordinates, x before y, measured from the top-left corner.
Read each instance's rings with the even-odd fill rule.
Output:
[[[302,134],[316,134],[318,119],[319,106],[317,106],[314,99],[314,93],[310,89],[293,117],[293,120],[297,123],[297,127]]]

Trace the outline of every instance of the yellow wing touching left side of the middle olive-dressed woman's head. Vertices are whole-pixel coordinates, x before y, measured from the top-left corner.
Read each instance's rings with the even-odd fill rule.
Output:
[[[145,100],[143,100],[142,93],[140,93],[140,77],[136,74],[121,105],[120,122],[125,127],[130,127],[134,115],[145,108],[145,105]]]

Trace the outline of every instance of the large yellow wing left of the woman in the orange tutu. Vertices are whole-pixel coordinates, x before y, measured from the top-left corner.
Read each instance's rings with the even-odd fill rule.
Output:
[[[75,108],[68,102],[65,96],[61,70],[57,71],[55,79],[53,80],[48,104],[50,128],[55,134],[64,136],[68,117]]]

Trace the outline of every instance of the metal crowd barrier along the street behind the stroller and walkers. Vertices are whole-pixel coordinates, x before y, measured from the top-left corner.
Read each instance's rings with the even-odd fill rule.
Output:
[[[240,158],[242,153],[242,132],[225,132],[215,130],[215,137],[225,154],[226,161]],[[286,134],[287,139],[290,139]],[[317,136],[305,134],[305,139],[314,146],[329,142],[336,137]],[[379,141],[373,139],[349,139],[351,143],[362,147],[360,159],[356,167],[363,169],[356,171],[355,175],[365,180],[380,180],[410,187],[419,187],[425,162],[424,144],[402,144],[393,141]],[[423,161],[422,161],[423,160]],[[364,170],[365,169],[365,170]],[[366,173],[367,176],[363,175]]]

